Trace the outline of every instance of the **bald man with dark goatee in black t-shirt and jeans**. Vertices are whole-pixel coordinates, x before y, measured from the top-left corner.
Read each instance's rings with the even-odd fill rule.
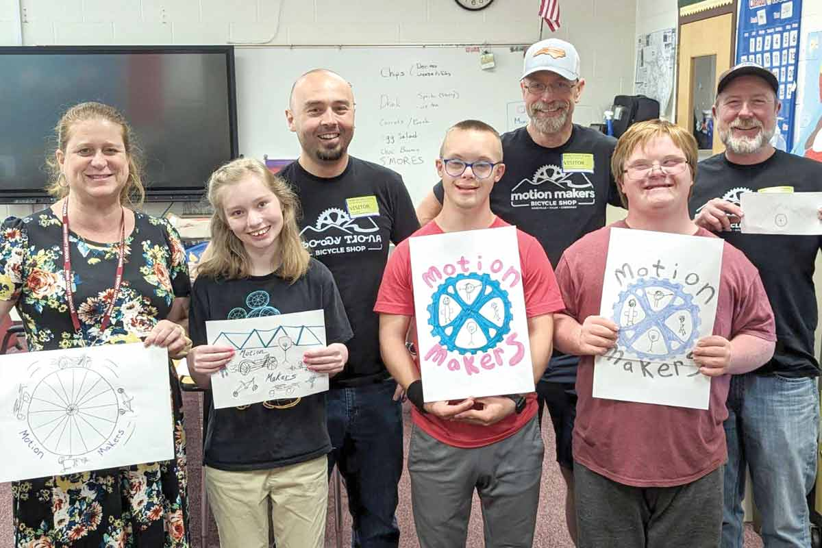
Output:
[[[401,390],[380,356],[376,292],[388,248],[419,228],[402,177],[353,158],[351,85],[317,69],[294,83],[285,111],[299,159],[279,173],[302,203],[302,239],[334,274],[354,336],[349,361],[331,379],[328,431],[353,517],[352,545],[398,546],[397,483],[403,468]]]

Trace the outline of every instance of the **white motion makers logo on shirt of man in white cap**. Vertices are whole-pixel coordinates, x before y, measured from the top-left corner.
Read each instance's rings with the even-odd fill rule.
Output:
[[[593,173],[593,165],[588,173]],[[523,179],[511,189],[511,207],[532,210],[573,210],[593,205],[597,193],[582,170],[570,171],[556,165],[543,165],[533,177]]]

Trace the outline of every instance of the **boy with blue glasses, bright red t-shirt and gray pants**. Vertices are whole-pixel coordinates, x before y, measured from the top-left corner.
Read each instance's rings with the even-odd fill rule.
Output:
[[[502,145],[483,122],[446,133],[436,168],[440,214],[411,237],[507,226],[488,195],[505,171]],[[464,546],[473,491],[483,504],[487,546],[532,546],[543,463],[536,397],[513,394],[423,402],[418,364],[405,348],[414,315],[409,239],[390,256],[374,310],[383,361],[414,404],[409,472],[420,546]],[[542,246],[517,231],[534,381],[551,357],[553,316],[564,305]]]

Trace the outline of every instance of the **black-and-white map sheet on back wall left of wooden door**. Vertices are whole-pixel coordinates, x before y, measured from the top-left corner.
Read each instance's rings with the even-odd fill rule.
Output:
[[[667,103],[671,99],[676,58],[676,29],[637,36],[634,93],[657,99],[660,113],[667,112]]]

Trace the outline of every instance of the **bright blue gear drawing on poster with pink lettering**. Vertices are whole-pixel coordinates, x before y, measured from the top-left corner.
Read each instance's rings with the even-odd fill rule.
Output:
[[[495,348],[513,319],[508,292],[488,274],[446,279],[427,307],[428,325],[441,346],[461,354]]]

